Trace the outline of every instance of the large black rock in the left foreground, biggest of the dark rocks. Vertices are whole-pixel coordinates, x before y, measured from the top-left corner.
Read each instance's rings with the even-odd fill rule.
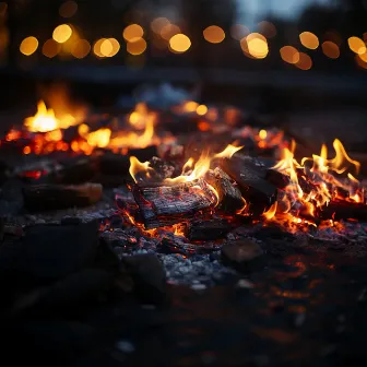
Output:
[[[98,246],[96,221],[79,225],[36,225],[25,236],[0,247],[0,275],[24,273],[57,280],[93,265]]]

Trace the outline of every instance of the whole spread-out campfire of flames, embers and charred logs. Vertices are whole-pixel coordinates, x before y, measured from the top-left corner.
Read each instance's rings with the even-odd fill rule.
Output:
[[[366,220],[360,164],[340,140],[332,158],[322,145],[297,161],[281,130],[244,127],[240,116],[190,100],[168,110],[139,103],[127,114],[58,114],[40,100],[1,150],[43,156],[12,173],[32,179],[23,190],[28,210],[95,203],[102,186],[75,183],[108,176],[128,189],[116,194],[123,225],[146,237],[217,240],[244,223],[295,234]]]

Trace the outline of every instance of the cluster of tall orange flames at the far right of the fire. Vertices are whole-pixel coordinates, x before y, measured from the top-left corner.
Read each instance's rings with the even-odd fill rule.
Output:
[[[294,143],[291,150],[283,150],[283,158],[273,168],[288,176],[289,183],[283,190],[283,196],[279,197],[277,203],[281,211],[275,218],[274,215],[272,216],[273,220],[297,225],[316,225],[311,217],[315,217],[317,209],[322,209],[332,200],[365,202],[364,188],[351,173],[347,173],[346,178],[339,178],[329,173],[332,170],[336,175],[342,175],[351,166],[356,171],[360,168],[359,162],[353,161],[347,155],[340,140],[335,139],[333,146],[334,158],[328,159],[328,150],[323,144],[320,155],[305,157],[300,164],[294,158],[296,147]],[[308,162],[311,162],[311,168],[306,164]],[[305,183],[305,191],[300,188],[300,179]],[[265,215],[265,218],[269,220],[269,215]]]

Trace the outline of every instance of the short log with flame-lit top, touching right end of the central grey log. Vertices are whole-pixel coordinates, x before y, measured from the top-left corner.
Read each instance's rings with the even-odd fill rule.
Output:
[[[214,170],[210,170],[205,180],[216,190],[220,197],[218,209],[226,213],[235,213],[244,206],[241,192],[223,169],[216,167]]]

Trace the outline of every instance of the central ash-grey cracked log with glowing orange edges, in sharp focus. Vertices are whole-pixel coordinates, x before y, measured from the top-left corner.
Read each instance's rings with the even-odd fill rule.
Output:
[[[141,187],[132,193],[146,229],[169,226],[194,217],[216,203],[214,192],[203,179],[175,186]]]

